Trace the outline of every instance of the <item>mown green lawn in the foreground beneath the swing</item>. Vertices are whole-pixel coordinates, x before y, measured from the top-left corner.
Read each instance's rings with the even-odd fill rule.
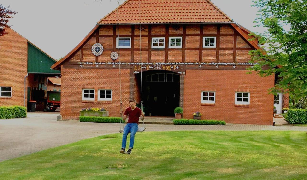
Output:
[[[131,155],[119,153],[121,136],[1,162],[0,179],[307,179],[306,132],[143,132]]]

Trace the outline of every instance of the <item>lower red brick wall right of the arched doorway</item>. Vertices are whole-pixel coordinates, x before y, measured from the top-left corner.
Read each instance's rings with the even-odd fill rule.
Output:
[[[225,120],[226,123],[273,123],[274,76],[259,77],[255,73],[238,70],[187,70],[184,82],[184,118],[193,118],[193,112],[202,119]],[[197,77],[197,78],[195,78]],[[202,80],[201,83],[199,80]],[[201,105],[201,91],[216,91],[214,106]],[[249,107],[235,107],[235,92],[250,92]]]

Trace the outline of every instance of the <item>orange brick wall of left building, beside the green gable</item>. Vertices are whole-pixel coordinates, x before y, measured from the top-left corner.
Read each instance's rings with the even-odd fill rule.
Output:
[[[0,37],[0,86],[12,87],[12,97],[0,97],[0,106],[23,106],[28,41],[10,28],[7,28],[6,31],[8,34]],[[18,52],[16,52],[16,47],[18,47]],[[27,98],[27,89],[25,93],[25,98]]]

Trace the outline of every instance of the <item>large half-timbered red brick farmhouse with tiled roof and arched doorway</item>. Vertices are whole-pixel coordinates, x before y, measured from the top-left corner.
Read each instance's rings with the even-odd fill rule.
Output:
[[[184,118],[273,124],[274,76],[247,74],[259,48],[249,33],[209,0],[128,0],[52,66],[62,72],[61,114],[104,107],[118,117],[120,98],[124,108],[134,98],[151,116],[180,106]]]

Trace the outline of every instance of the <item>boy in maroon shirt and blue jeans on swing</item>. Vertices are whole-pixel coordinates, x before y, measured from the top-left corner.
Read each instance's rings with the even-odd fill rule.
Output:
[[[124,128],[124,133],[122,134],[122,149],[120,150],[120,153],[122,154],[131,154],[133,144],[134,144],[134,135],[138,131],[138,120],[140,117],[144,117],[144,112],[138,107],[135,106],[135,100],[130,99],[129,100],[129,108],[126,109],[124,116],[122,117],[123,121],[126,120],[127,116],[128,117],[128,123],[126,124]],[[119,113],[122,116],[122,109],[119,111]],[[126,142],[127,142],[127,135],[130,132],[130,144],[129,144],[129,149],[126,152]]]

